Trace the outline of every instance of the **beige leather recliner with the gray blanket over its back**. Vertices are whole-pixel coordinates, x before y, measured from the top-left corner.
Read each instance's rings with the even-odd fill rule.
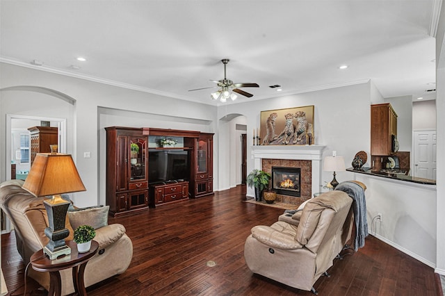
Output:
[[[343,191],[325,192],[288,222],[253,227],[245,241],[245,262],[255,274],[316,294],[314,283],[350,238],[352,203]]]

